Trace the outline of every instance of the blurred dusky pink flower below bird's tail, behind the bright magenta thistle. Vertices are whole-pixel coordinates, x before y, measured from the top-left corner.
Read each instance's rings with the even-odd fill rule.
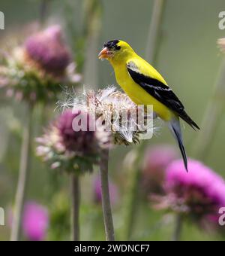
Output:
[[[146,194],[163,193],[166,166],[177,157],[177,151],[170,145],[147,148],[142,165],[142,187]]]

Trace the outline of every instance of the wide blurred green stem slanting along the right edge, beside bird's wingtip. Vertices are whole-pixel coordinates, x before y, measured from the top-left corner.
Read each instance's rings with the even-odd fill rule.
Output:
[[[220,117],[223,115],[224,99],[225,99],[225,60],[217,76],[217,81],[214,85],[214,93],[203,116],[202,124],[200,126],[201,132],[198,133],[196,144],[193,148],[193,155],[201,160],[205,160],[220,123]]]

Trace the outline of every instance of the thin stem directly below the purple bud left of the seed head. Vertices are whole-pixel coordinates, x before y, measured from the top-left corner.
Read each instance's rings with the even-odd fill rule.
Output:
[[[71,240],[80,240],[80,177],[71,175]]]

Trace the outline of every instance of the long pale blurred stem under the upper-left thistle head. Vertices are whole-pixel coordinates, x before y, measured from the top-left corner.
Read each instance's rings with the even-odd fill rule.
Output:
[[[31,119],[32,107],[28,107],[26,124],[23,130],[23,145],[20,156],[20,172],[17,184],[15,208],[13,211],[13,224],[10,234],[11,241],[18,241],[21,238],[21,224],[23,219],[23,207],[26,199],[26,188],[31,162]]]

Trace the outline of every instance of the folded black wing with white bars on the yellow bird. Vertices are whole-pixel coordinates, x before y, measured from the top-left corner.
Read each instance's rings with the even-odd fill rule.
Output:
[[[144,89],[159,102],[163,103],[163,105],[166,105],[167,108],[178,114],[178,116],[190,124],[193,129],[194,127],[199,129],[199,126],[197,126],[196,123],[194,123],[193,120],[191,120],[191,118],[184,111],[184,105],[166,84],[163,84],[155,78],[142,75],[138,72],[138,69],[133,62],[127,63],[127,71],[133,81],[136,84],[139,84],[142,89]]]

